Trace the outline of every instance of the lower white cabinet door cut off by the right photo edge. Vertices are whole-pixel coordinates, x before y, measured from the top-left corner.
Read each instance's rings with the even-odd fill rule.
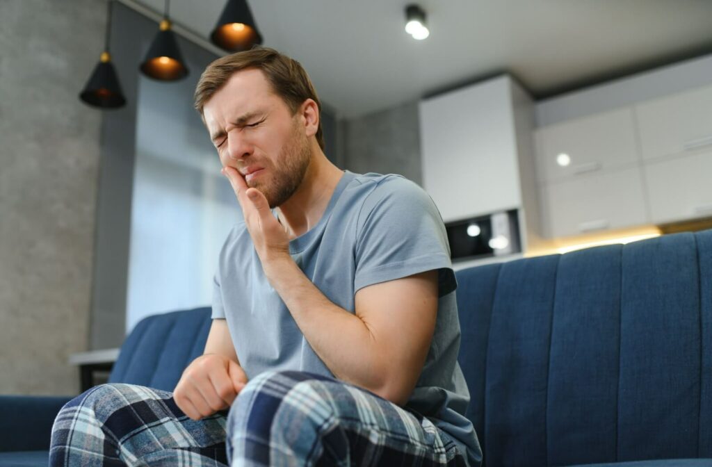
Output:
[[[712,152],[649,162],[645,177],[654,222],[712,217]]]

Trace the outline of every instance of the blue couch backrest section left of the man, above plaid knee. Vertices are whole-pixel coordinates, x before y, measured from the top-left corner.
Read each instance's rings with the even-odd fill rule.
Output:
[[[172,391],[185,367],[203,353],[210,324],[210,308],[144,318],[121,346],[109,382]]]

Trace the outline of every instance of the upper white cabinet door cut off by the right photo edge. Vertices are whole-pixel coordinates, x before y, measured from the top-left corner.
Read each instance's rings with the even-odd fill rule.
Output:
[[[712,86],[652,100],[635,111],[643,159],[712,147]]]

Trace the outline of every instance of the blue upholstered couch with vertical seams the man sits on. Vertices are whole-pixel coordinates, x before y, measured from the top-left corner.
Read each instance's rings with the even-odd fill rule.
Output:
[[[457,278],[486,466],[712,466],[712,230]],[[146,318],[110,381],[172,389],[208,327],[206,308]],[[46,465],[67,399],[0,399],[0,451],[24,451],[0,466]]]

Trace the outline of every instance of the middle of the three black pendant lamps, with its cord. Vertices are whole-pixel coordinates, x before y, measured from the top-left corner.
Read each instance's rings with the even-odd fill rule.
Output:
[[[139,69],[141,72],[159,81],[174,81],[185,78],[188,68],[183,61],[175,34],[171,31],[168,19],[169,0],[166,0],[164,16],[156,37],[153,39],[146,57]]]

